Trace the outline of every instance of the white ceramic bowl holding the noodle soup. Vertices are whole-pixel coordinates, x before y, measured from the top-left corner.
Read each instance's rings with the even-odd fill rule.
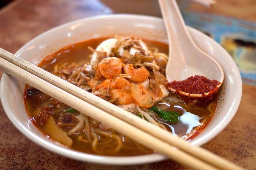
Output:
[[[191,141],[193,145],[202,145],[221,132],[233,118],[240,103],[242,82],[233,59],[219,44],[191,27],[188,27],[188,31],[196,44],[221,64],[225,74],[212,120],[204,131]],[[72,21],[51,29],[29,41],[16,55],[38,64],[44,56],[69,44],[116,34],[167,42],[163,20],[160,18],[142,15],[104,15]],[[17,129],[40,146],[69,158],[100,164],[131,165],[165,159],[165,156],[159,154],[120,157],[91,155],[59,145],[43,135],[30,121],[24,108],[24,87],[25,83],[4,73],[0,85],[2,105]]]

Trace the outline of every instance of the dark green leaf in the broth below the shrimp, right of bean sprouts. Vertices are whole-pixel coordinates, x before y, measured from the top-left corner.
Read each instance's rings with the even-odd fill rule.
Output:
[[[158,109],[156,106],[152,106],[149,111],[155,112],[157,115],[159,115],[160,118],[165,121],[170,121],[171,123],[177,123],[179,118],[178,112],[163,111],[161,109]]]

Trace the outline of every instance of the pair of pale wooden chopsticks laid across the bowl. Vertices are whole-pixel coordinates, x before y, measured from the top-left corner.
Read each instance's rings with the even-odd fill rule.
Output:
[[[179,149],[201,159],[202,161],[205,161],[205,162],[213,165],[214,167],[217,167],[220,169],[241,169],[237,165],[234,165],[231,162],[228,162],[227,160],[220,158],[219,156],[214,155],[213,153],[211,153],[205,149],[202,149],[198,146],[191,146],[189,143],[185,142],[184,140],[180,139],[179,137],[174,137],[170,132],[167,132],[167,131],[161,129],[160,127],[158,127],[154,124],[151,124],[145,120],[142,120],[141,118],[137,117],[136,115],[133,115],[130,112],[127,112],[127,111],[119,108],[118,106],[113,105],[112,103],[109,103],[97,96],[94,96],[93,94],[91,94],[85,90],[82,90],[81,88],[79,88],[75,85],[72,85],[71,83],[66,82],[65,80],[63,80],[57,76],[54,76],[53,74],[43,70],[42,68],[39,68],[39,67],[13,55],[1,48],[0,48],[0,57],[1,57],[0,68],[3,68],[3,71],[11,74],[14,77],[22,79],[26,83],[43,91],[46,94],[49,94],[52,97],[55,97],[56,99],[62,101],[63,103],[66,103],[67,105],[77,109],[78,111],[85,113],[86,115],[88,115],[102,123],[108,124],[109,126],[113,127],[113,129],[115,129],[119,132],[122,131],[121,133],[125,134],[126,136],[128,136],[136,141],[138,141],[138,138],[140,138],[139,139],[140,143],[144,144],[145,146],[147,146],[153,150],[156,150],[159,153],[167,155],[169,158],[174,159],[177,162],[182,163],[184,161],[184,159],[177,158],[178,155],[176,155],[177,157],[175,157],[172,154],[170,155],[169,152],[163,152],[164,149],[162,148],[162,146],[160,148],[156,147],[155,144],[151,145],[152,142],[148,143],[147,140],[145,140],[145,138],[140,137],[138,135],[132,135],[132,134],[143,133],[143,135],[147,135],[148,137],[152,138],[152,140],[156,140],[158,143],[162,143],[165,147],[167,147],[168,151],[170,151],[170,148],[172,148],[169,145],[169,144],[171,144],[171,145],[176,146]],[[10,70],[9,67],[4,67],[5,65],[2,64],[2,62],[4,62],[3,59],[5,59],[6,61],[9,62],[9,67],[16,68],[16,69],[19,68],[19,70],[22,70],[22,73],[21,73],[21,71],[20,71],[20,73],[19,72],[13,73],[13,70]],[[21,74],[21,75],[19,76],[17,74]],[[22,75],[34,76],[34,79],[36,77],[37,80],[35,80],[35,81],[30,80],[29,82],[27,82],[28,81],[27,79],[29,76],[22,76]],[[40,83],[38,83],[39,81],[40,81]],[[44,84],[44,85],[42,85],[42,84]],[[46,84],[48,87],[53,86],[54,89],[58,89],[59,93],[54,93],[52,91],[53,87],[49,88],[51,90],[44,88],[44,87],[46,87]],[[44,86],[44,87],[42,87],[42,86]],[[59,88],[57,88],[57,87],[59,87]],[[54,91],[57,91],[57,90],[54,90]],[[60,94],[62,94],[62,95],[59,96]],[[64,94],[65,94],[65,96],[72,96],[72,97],[69,98],[68,100],[67,100],[67,98],[63,99]],[[72,100],[72,102],[71,102],[71,100]],[[79,101],[77,103],[77,105],[76,105],[76,102],[74,102],[74,100]],[[79,105],[80,102],[83,102],[83,104],[84,104],[84,106],[82,108],[80,108],[80,105]],[[88,102],[89,104],[86,102]],[[88,107],[89,107],[89,109],[88,109]],[[96,109],[97,111],[96,110],[93,111],[91,108]],[[92,112],[94,114],[91,114]],[[100,114],[98,114],[98,112],[100,112]],[[95,114],[95,113],[97,113],[97,114]],[[112,114],[113,116],[109,115],[108,113]],[[99,116],[97,117],[96,115],[97,116],[99,115]],[[105,115],[108,115],[108,117],[109,117],[108,121],[106,121]],[[118,118],[121,120],[119,120]],[[116,121],[114,121],[114,122],[111,121],[113,119],[116,121],[118,120],[119,123],[122,122],[121,123],[122,126],[124,126],[123,123],[125,123],[124,121],[126,121],[127,123],[125,123],[125,126],[129,126],[128,129],[135,126],[135,127],[133,127],[133,130],[131,130],[131,129],[129,130],[130,132],[133,132],[133,133],[130,134],[129,132],[125,131],[125,129],[123,129],[123,128],[122,128],[122,130],[120,130],[119,126],[116,127],[117,124],[119,124],[119,123],[117,123]],[[112,124],[112,123],[114,123],[114,124]],[[130,124],[133,126],[131,126]],[[139,129],[141,129],[142,131]],[[147,132],[148,134],[143,131]],[[156,139],[156,138],[158,138],[158,139]],[[148,139],[148,141],[149,141],[149,139]],[[178,149],[175,149],[175,150],[178,150]],[[174,151],[172,149],[171,152],[176,152],[176,151]],[[179,152],[179,154],[184,153],[180,150],[178,150],[178,152]],[[191,162],[191,159],[194,159],[194,158],[189,157],[189,155],[187,155],[187,154],[185,154],[185,155],[188,156],[189,161],[185,161],[185,162],[183,162],[183,164],[185,164],[189,167],[194,166],[194,164],[202,164],[202,161],[199,161],[198,159],[196,159],[197,160],[196,162]],[[175,158],[173,158],[173,156]],[[188,163],[188,162],[190,162],[190,163]],[[191,165],[191,164],[193,164],[193,165]],[[191,167],[191,168],[198,169],[199,167],[201,167],[201,165],[197,166],[197,167]],[[213,168],[213,167],[209,167],[209,168]]]

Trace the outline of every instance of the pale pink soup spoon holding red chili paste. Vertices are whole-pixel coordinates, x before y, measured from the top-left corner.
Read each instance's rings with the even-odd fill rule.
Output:
[[[169,41],[169,58],[166,67],[168,81],[184,80],[190,76],[200,75],[222,84],[224,72],[221,65],[194,43],[185,27],[176,1],[159,0],[159,5]],[[221,84],[217,87],[219,88]],[[180,94],[198,98],[211,93],[190,94],[180,91]]]

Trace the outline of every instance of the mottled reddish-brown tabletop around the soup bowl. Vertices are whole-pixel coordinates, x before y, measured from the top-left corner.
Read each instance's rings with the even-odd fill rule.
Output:
[[[30,39],[62,23],[111,13],[97,0],[17,0],[0,10],[0,47],[15,53]],[[2,72],[0,73],[0,76]],[[256,87],[243,84],[239,109],[230,124],[205,149],[255,169]],[[22,135],[0,106],[0,169],[187,169],[171,161],[135,166],[89,164],[65,158],[38,146]]]

